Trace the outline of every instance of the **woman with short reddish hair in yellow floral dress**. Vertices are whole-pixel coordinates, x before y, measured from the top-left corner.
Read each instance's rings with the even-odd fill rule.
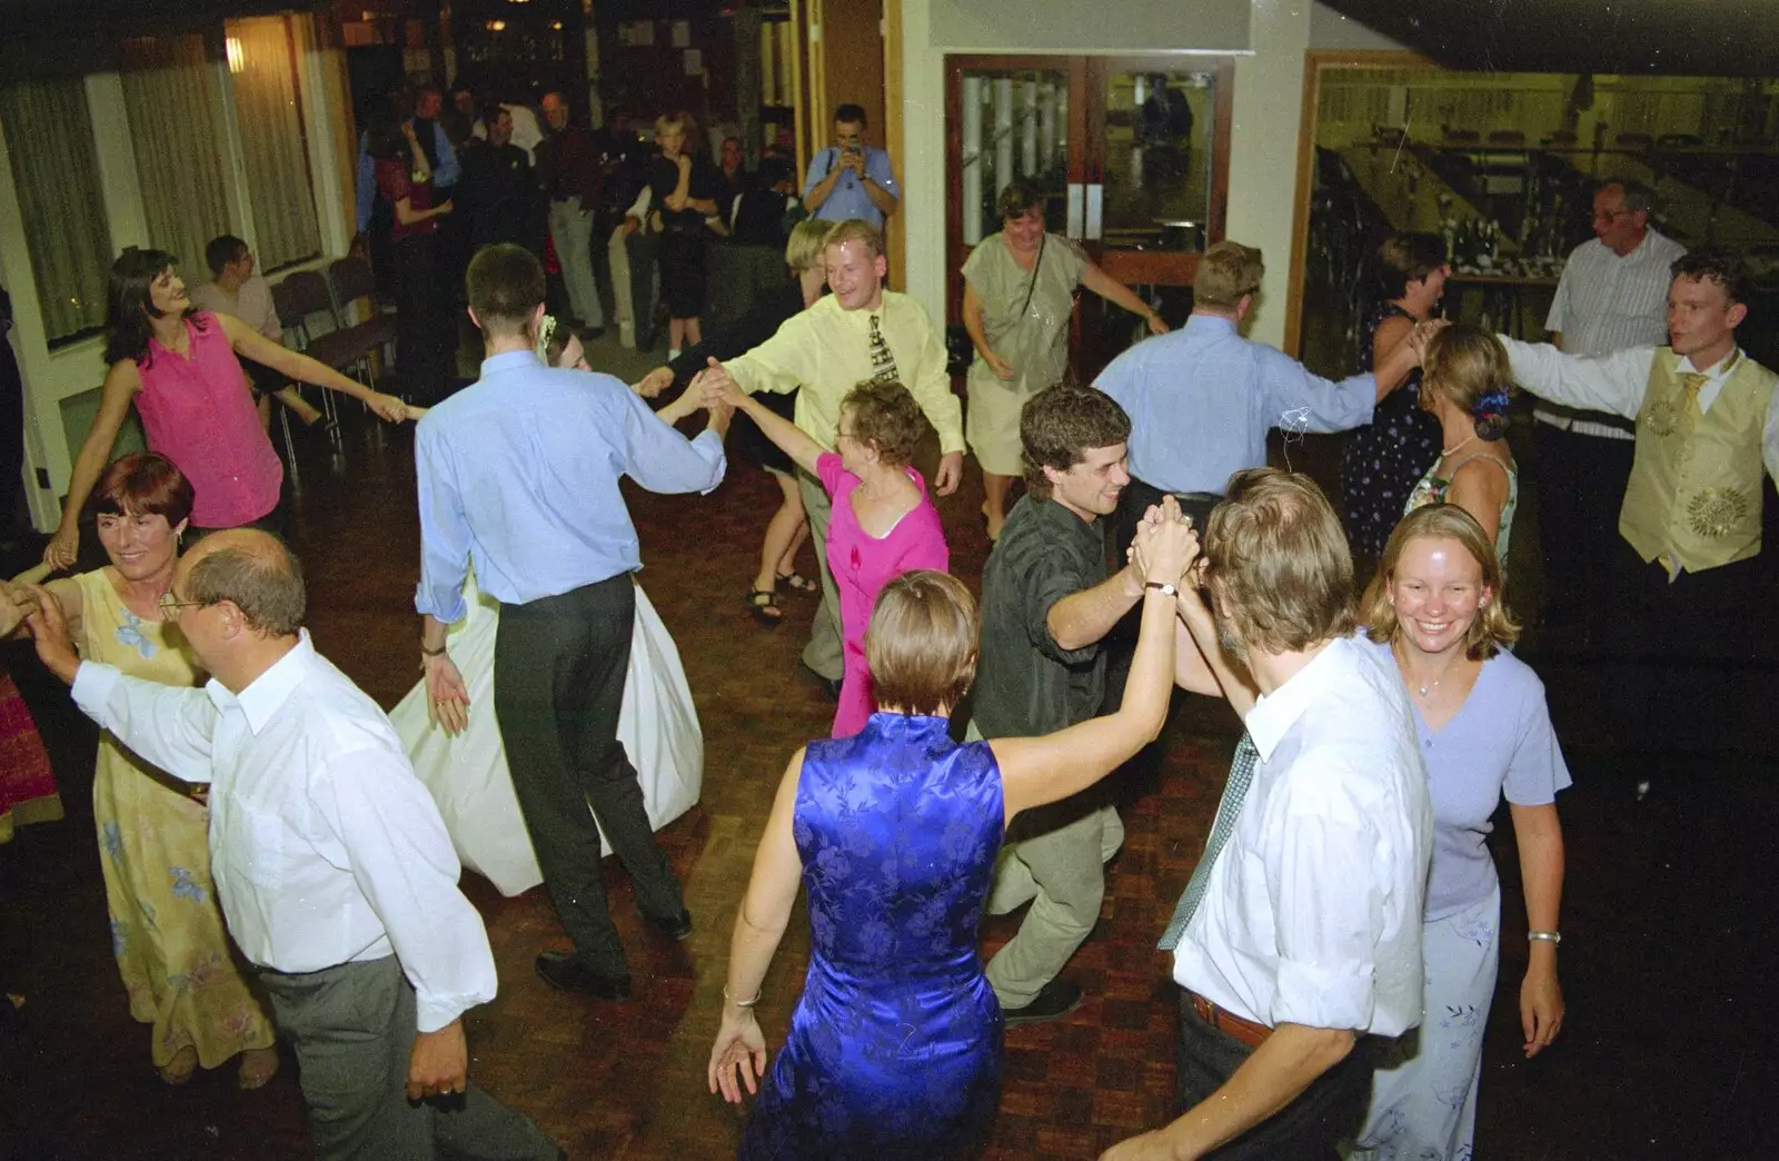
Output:
[[[192,484],[171,459],[125,456],[105,468],[87,500],[110,564],[52,580],[87,661],[132,677],[194,686],[199,673],[178,629],[173,570],[192,515]],[[0,593],[18,613],[32,597]],[[0,623],[12,616],[0,616]],[[276,1029],[249,990],[222,930],[210,883],[208,816],[185,791],[110,734],[100,735],[93,816],[110,910],[112,953],[130,1015],[153,1026],[160,1079],[183,1084],[203,1065],[240,1054],[242,1088],[278,1072]]]

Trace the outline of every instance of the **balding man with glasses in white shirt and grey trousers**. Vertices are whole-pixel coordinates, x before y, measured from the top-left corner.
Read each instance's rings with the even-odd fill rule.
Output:
[[[390,719],[302,629],[302,572],[256,529],[185,554],[162,614],[203,689],[82,662],[36,589],[37,654],[89,718],[210,783],[210,869],[242,954],[295,1042],[315,1156],[553,1161],[523,1115],[468,1084],[463,1013],[495,997],[482,917]]]

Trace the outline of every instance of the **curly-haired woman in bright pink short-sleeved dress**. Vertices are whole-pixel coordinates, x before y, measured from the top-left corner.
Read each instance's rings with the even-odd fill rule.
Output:
[[[946,572],[952,563],[927,481],[909,467],[927,420],[900,383],[859,383],[840,404],[836,451],[829,452],[753,395],[729,388],[719,397],[747,411],[797,467],[822,481],[833,500],[827,568],[840,588],[845,659],[834,737],[850,737],[877,707],[865,664],[865,627],[877,593],[904,572]]]

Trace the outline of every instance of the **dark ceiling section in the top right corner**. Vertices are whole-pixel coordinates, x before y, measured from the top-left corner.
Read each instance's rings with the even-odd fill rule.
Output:
[[[1441,64],[1774,77],[1779,0],[1322,0]]]

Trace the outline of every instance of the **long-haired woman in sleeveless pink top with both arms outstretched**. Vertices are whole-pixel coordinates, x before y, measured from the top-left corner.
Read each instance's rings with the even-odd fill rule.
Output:
[[[135,402],[151,451],[192,481],[192,527],[228,529],[263,520],[285,481],[272,442],[260,427],[247,376],[237,354],[361,399],[386,420],[407,418],[395,395],[374,392],[306,354],[283,347],[231,315],[197,313],[176,258],[133,246],[112,264],[105,310],[105,385],[68,481],[62,525],[43,559],[69,568],[80,552],[80,511],[98,483],[123,417]]]

